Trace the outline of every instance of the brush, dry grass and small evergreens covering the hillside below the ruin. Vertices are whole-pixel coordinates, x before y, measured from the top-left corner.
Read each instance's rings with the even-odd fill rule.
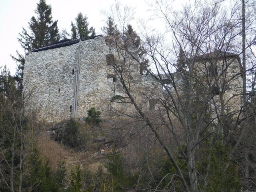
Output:
[[[34,124],[32,116],[25,116],[24,102],[18,103],[20,96],[8,70],[1,72],[0,82],[5,88],[1,90],[0,110],[1,191],[184,190],[174,165],[158,143],[152,142],[154,137],[148,135],[149,130],[142,121],[134,123],[127,118],[111,122],[102,120],[100,113],[91,108],[88,111],[90,121],[70,119],[62,122],[66,125],[66,130],[61,131],[64,134],[57,135],[57,139],[46,138],[43,132],[51,125]],[[142,127],[144,131],[141,131]],[[55,150],[50,148],[53,144],[46,145],[48,142],[56,145]],[[208,150],[207,142],[202,142],[197,151],[199,174],[205,175],[206,164],[210,161],[209,174],[199,179],[200,190],[240,190],[241,170],[238,162],[229,158],[230,148],[222,143],[221,136],[214,138],[215,145],[211,150]],[[186,160],[179,148],[171,145],[176,148],[177,162],[189,182]],[[186,145],[182,148],[186,152]],[[105,153],[95,155],[101,149]],[[60,155],[61,150],[69,152]],[[76,154],[76,158],[70,160],[72,154]],[[56,156],[58,161],[54,164]],[[92,169],[92,165],[96,166]]]

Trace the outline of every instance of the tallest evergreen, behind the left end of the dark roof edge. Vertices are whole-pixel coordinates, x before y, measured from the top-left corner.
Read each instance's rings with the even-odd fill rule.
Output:
[[[45,0],[38,2],[35,13],[36,16],[32,16],[30,22],[28,22],[28,30],[23,27],[18,37],[18,41],[24,49],[24,52],[29,52],[32,49],[42,47],[60,39],[57,26],[58,20],[52,20],[52,8],[50,5],[46,4]],[[21,86],[25,58],[18,52],[17,57],[11,57],[18,63],[16,80]],[[22,86],[20,89],[22,89]]]

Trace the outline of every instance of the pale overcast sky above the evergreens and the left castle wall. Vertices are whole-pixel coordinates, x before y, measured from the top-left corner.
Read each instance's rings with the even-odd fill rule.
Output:
[[[16,63],[10,58],[10,54],[16,55],[16,50],[23,53],[17,37],[22,31],[22,26],[26,28],[30,18],[35,15],[34,10],[38,1],[0,0],[0,67],[7,65],[11,74],[16,72]],[[121,0],[121,2],[136,8],[135,18],[147,19],[151,14],[147,11],[148,6],[144,0]],[[102,34],[100,29],[104,25],[106,16],[101,10],[109,10],[114,0],[46,0],[46,3],[52,6],[53,20],[58,20],[60,31],[66,29],[69,32],[71,21],[82,12],[87,15],[90,26],[96,28],[96,33]]]

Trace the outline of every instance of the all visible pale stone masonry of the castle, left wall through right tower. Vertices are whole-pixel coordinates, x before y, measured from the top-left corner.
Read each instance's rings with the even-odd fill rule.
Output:
[[[105,38],[95,37],[80,42],[80,70],[78,84],[78,107],[77,117],[87,116],[87,110],[95,107],[102,112],[102,116],[108,116],[110,109],[116,109],[124,113],[136,111],[129,103],[120,82],[114,82],[114,70],[107,64],[106,55],[110,54]],[[24,66],[24,93],[30,95],[30,108],[40,119],[47,121],[64,120],[73,115],[74,110],[74,90],[75,74],[78,63],[79,42],[59,48],[47,49],[38,52],[30,52],[26,56]],[[113,53],[115,55],[115,53]],[[118,56],[115,55],[116,62]],[[159,97],[165,99],[162,86],[151,76],[140,75],[138,64],[132,59],[126,58],[124,74],[130,81],[131,94],[137,104],[144,109],[152,109],[151,104]],[[229,110],[238,110],[241,106],[240,96],[233,97],[234,94],[241,93],[240,76],[232,78],[234,73],[240,69],[237,60],[229,66],[227,77],[232,79],[225,93],[225,101],[229,103]],[[203,70],[201,70],[203,71]],[[168,79],[167,77],[162,77]],[[179,73],[174,74],[176,87],[181,93],[186,90],[184,76]],[[173,91],[170,87],[170,91]],[[120,100],[113,100],[114,96],[124,97],[126,103]],[[126,98],[125,98],[126,97]],[[184,98],[186,94],[184,94]],[[231,99],[230,99],[231,98]],[[218,96],[216,96],[218,100]],[[115,102],[116,101],[116,102]],[[153,101],[153,102],[152,102]]]

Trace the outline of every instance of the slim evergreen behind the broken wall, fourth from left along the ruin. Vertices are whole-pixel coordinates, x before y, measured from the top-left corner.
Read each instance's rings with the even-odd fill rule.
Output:
[[[141,44],[140,36],[138,36],[136,31],[132,28],[130,24],[128,24],[126,28],[126,39],[128,44],[134,45],[139,50],[138,56],[141,60],[140,74],[144,74],[146,71],[145,69],[149,67],[148,59],[145,58],[146,52]]]

